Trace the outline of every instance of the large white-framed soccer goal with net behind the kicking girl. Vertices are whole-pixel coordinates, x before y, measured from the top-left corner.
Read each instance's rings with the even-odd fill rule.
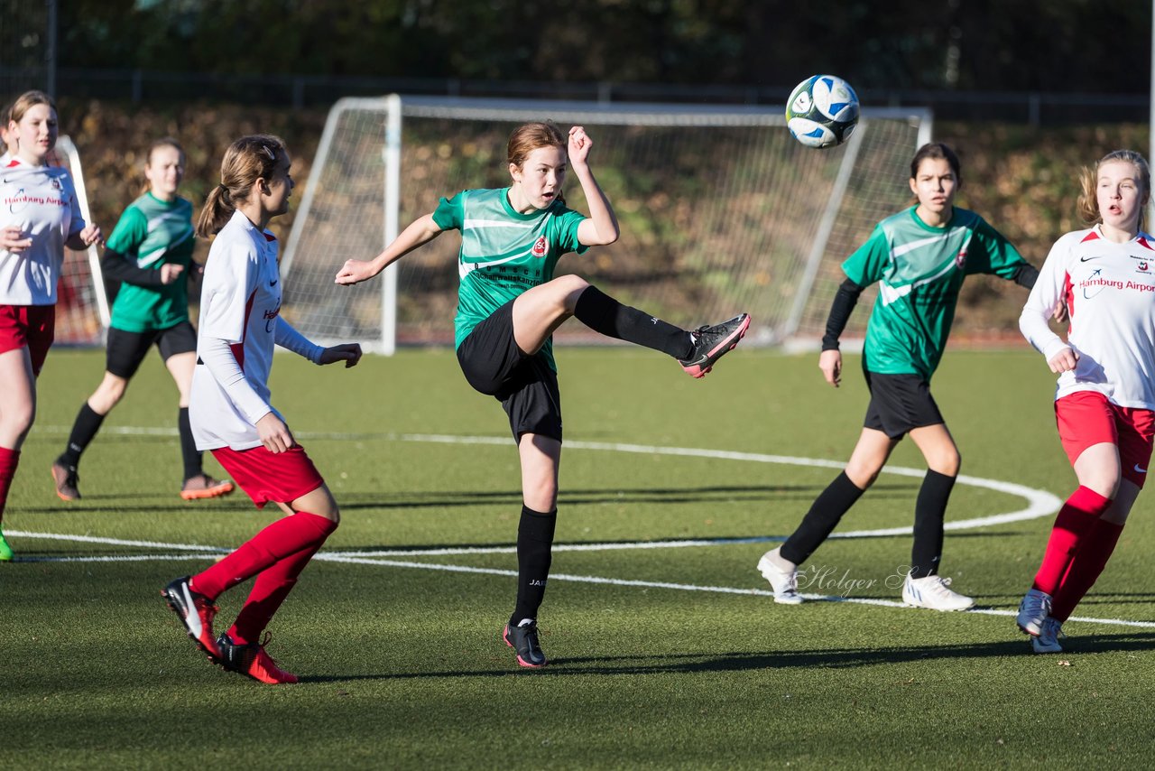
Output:
[[[352,288],[333,277],[370,259],[441,197],[509,183],[506,141],[527,120],[583,125],[590,165],[621,238],[564,257],[618,299],[685,327],[748,311],[753,342],[818,338],[839,265],[909,199],[910,157],[930,140],[921,109],[866,109],[842,147],[796,142],[768,108],[446,97],[345,98],[328,117],[282,264],[284,313],[310,338],[453,341],[460,239],[447,233]],[[565,194],[587,212],[571,176]],[[850,331],[854,332],[852,329]],[[575,321],[558,340],[594,338]]]

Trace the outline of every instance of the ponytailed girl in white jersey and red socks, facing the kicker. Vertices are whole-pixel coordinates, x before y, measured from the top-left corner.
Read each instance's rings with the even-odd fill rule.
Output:
[[[360,346],[322,348],[281,318],[277,239],[269,221],[289,210],[289,153],[276,136],[243,136],[221,163],[198,235],[217,233],[204,264],[188,417],[198,450],[209,450],[273,522],[221,562],[178,578],[162,594],[209,660],[266,683],[295,683],[264,650],[261,632],[329,534],[340,513],[325,480],[269,405],[274,344],[315,364],[360,359]],[[232,628],[213,635],[214,600],[256,576]]]

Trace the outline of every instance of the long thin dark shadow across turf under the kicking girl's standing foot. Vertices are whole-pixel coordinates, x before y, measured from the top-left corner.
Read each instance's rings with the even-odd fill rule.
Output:
[[[761,651],[732,653],[671,653],[664,655],[611,655],[551,659],[542,669],[444,669],[381,675],[301,677],[301,682],[353,682],[359,680],[416,680],[427,677],[507,677],[519,673],[537,676],[571,675],[657,675],[761,669],[826,668],[844,669],[884,663],[934,661],[940,659],[990,659],[1023,657],[1040,665],[1055,666],[1080,653],[1115,653],[1155,648],[1155,632],[1123,632],[1068,637],[1061,654],[1038,655],[1022,640],[973,643],[964,645],[918,645],[884,648],[832,648],[815,651]],[[511,654],[511,662],[512,662]],[[907,673],[903,673],[907,674]]]

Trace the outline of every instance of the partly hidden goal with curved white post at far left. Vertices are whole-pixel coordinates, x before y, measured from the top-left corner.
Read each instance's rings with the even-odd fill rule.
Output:
[[[76,187],[81,215],[91,222],[84,170],[80,153],[68,136],[57,140],[53,165],[68,169]],[[105,236],[109,233],[105,232]],[[109,301],[105,294],[100,257],[96,244],[83,252],[65,249],[65,261],[57,287],[55,343],[64,346],[100,346],[109,328]]]

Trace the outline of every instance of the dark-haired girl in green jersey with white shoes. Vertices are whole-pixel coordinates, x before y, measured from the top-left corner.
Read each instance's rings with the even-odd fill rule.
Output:
[[[931,395],[930,380],[951,334],[963,280],[990,273],[1030,289],[1038,270],[974,212],[954,206],[961,175],[959,158],[940,142],[924,144],[910,162],[910,190],[917,205],[882,220],[842,269],[826,323],[819,369],[832,386],[842,376],[839,336],[858,295],[879,283],[866,327],[863,371],[871,400],[858,444],[845,470],[818,496],[802,524],[758,569],[774,590],[774,601],[798,605],[798,565],[829,536],[842,516],[866,491],[902,437],[926,459],[915,503],[915,542],[904,574],[902,600],[934,610],[964,610],[974,600],[949,588],[938,574],[942,519],[959,475],[959,448]]]

